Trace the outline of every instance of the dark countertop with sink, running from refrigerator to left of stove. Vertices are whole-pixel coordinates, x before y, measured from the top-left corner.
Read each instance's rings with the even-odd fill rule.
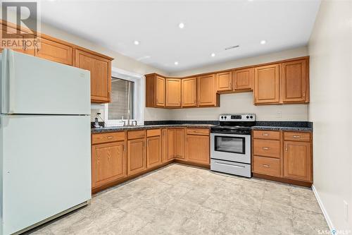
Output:
[[[140,125],[140,126],[108,126],[101,128],[91,128],[92,133],[106,133],[116,131],[139,131],[156,128],[172,128],[172,127],[190,127],[190,128],[210,128],[213,124],[203,123],[184,123],[184,124],[169,124],[169,125]]]

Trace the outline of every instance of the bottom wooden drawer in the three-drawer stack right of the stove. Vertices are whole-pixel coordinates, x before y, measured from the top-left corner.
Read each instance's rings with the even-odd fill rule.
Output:
[[[269,157],[253,156],[253,171],[258,174],[281,176],[280,160]]]

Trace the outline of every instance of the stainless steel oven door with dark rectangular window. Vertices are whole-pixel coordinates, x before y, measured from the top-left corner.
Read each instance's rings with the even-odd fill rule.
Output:
[[[251,164],[251,135],[211,133],[210,158]]]

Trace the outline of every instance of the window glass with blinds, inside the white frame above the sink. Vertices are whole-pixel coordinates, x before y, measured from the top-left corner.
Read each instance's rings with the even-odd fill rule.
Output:
[[[111,78],[111,103],[108,119],[134,119],[134,82]]]

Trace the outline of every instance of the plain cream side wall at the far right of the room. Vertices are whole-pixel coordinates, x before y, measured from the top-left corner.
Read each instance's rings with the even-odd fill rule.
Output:
[[[314,186],[330,226],[352,232],[352,1],[322,1],[308,49]]]

